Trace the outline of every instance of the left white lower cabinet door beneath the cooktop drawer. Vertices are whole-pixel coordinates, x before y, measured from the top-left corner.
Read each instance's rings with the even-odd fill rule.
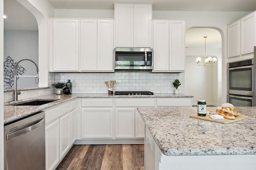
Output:
[[[116,138],[134,138],[135,109],[116,109]]]

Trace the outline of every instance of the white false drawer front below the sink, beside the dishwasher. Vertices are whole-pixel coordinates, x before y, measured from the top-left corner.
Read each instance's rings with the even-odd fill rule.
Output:
[[[45,124],[57,119],[68,111],[70,111],[70,102],[45,111]]]

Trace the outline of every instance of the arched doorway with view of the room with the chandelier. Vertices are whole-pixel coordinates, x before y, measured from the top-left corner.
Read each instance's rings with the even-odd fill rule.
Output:
[[[213,66],[197,66],[195,60],[201,57],[204,62],[205,39],[206,56],[216,57]],[[207,101],[207,105],[221,105],[222,79],[222,40],[218,30],[212,28],[190,28],[186,31],[186,72],[185,94],[194,96],[192,105],[197,100]]]

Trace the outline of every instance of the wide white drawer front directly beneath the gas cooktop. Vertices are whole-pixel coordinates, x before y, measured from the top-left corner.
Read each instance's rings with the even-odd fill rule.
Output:
[[[116,99],[117,107],[154,107],[154,98],[140,98],[140,99]]]

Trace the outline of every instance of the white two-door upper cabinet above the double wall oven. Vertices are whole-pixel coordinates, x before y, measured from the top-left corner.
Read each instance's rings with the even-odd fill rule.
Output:
[[[252,58],[256,46],[256,12],[228,25],[228,58]],[[231,60],[230,60],[231,61]]]

